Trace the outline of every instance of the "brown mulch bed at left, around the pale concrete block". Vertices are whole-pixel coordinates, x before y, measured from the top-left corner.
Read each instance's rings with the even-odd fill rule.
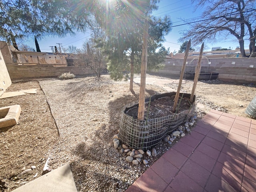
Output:
[[[49,105],[37,81],[12,83],[7,90],[37,89],[36,94],[0,99],[0,107],[20,105],[17,125],[0,129],[0,178],[8,189],[14,190],[20,182],[33,180],[42,170],[50,150],[58,139],[58,130]],[[31,166],[37,168],[31,174],[21,175]],[[1,190],[1,188],[0,188]]]

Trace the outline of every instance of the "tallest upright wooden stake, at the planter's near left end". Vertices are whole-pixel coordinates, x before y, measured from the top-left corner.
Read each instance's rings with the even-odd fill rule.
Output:
[[[142,61],[140,69],[140,95],[139,95],[139,108],[138,120],[144,120],[145,109],[145,91],[146,91],[146,72],[148,63],[148,22],[145,21],[143,30],[143,46],[142,46]]]

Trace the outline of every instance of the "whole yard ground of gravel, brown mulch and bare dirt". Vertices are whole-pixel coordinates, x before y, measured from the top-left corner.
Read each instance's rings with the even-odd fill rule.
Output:
[[[168,86],[176,89],[178,84]],[[184,81],[181,92],[190,93],[192,86],[192,81]],[[112,146],[121,108],[136,101],[129,82],[115,82],[108,75],[100,82],[94,77],[30,79],[13,82],[6,91],[22,89],[37,89],[37,93],[0,99],[0,107],[20,105],[22,109],[17,125],[0,130],[0,182],[5,182],[0,183],[0,190],[10,192],[41,176],[49,156],[50,169],[71,164],[78,191],[124,191],[146,170],[138,166],[135,174]],[[134,91],[139,92],[138,85]],[[146,85],[147,96],[164,92],[159,86]],[[251,83],[199,81],[197,111],[207,113],[214,108],[249,118],[244,111],[255,95]],[[21,174],[31,166],[36,169]],[[127,179],[126,185],[116,184]]]

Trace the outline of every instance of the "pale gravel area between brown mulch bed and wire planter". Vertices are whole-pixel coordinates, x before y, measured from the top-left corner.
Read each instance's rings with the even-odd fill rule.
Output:
[[[60,132],[49,167],[70,162],[78,191],[124,191],[154,162],[151,158],[148,166],[132,166],[113,147],[121,108],[136,100],[128,82],[104,76],[100,82],[88,77],[48,79],[40,85]],[[138,85],[134,90],[138,93]],[[160,91],[160,87],[147,87],[147,95]]]

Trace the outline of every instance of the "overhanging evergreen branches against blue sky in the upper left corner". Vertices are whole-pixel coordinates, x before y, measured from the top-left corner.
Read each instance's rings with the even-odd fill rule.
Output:
[[[0,38],[16,45],[16,39],[50,34],[64,37],[86,30],[90,1],[1,0]]]

